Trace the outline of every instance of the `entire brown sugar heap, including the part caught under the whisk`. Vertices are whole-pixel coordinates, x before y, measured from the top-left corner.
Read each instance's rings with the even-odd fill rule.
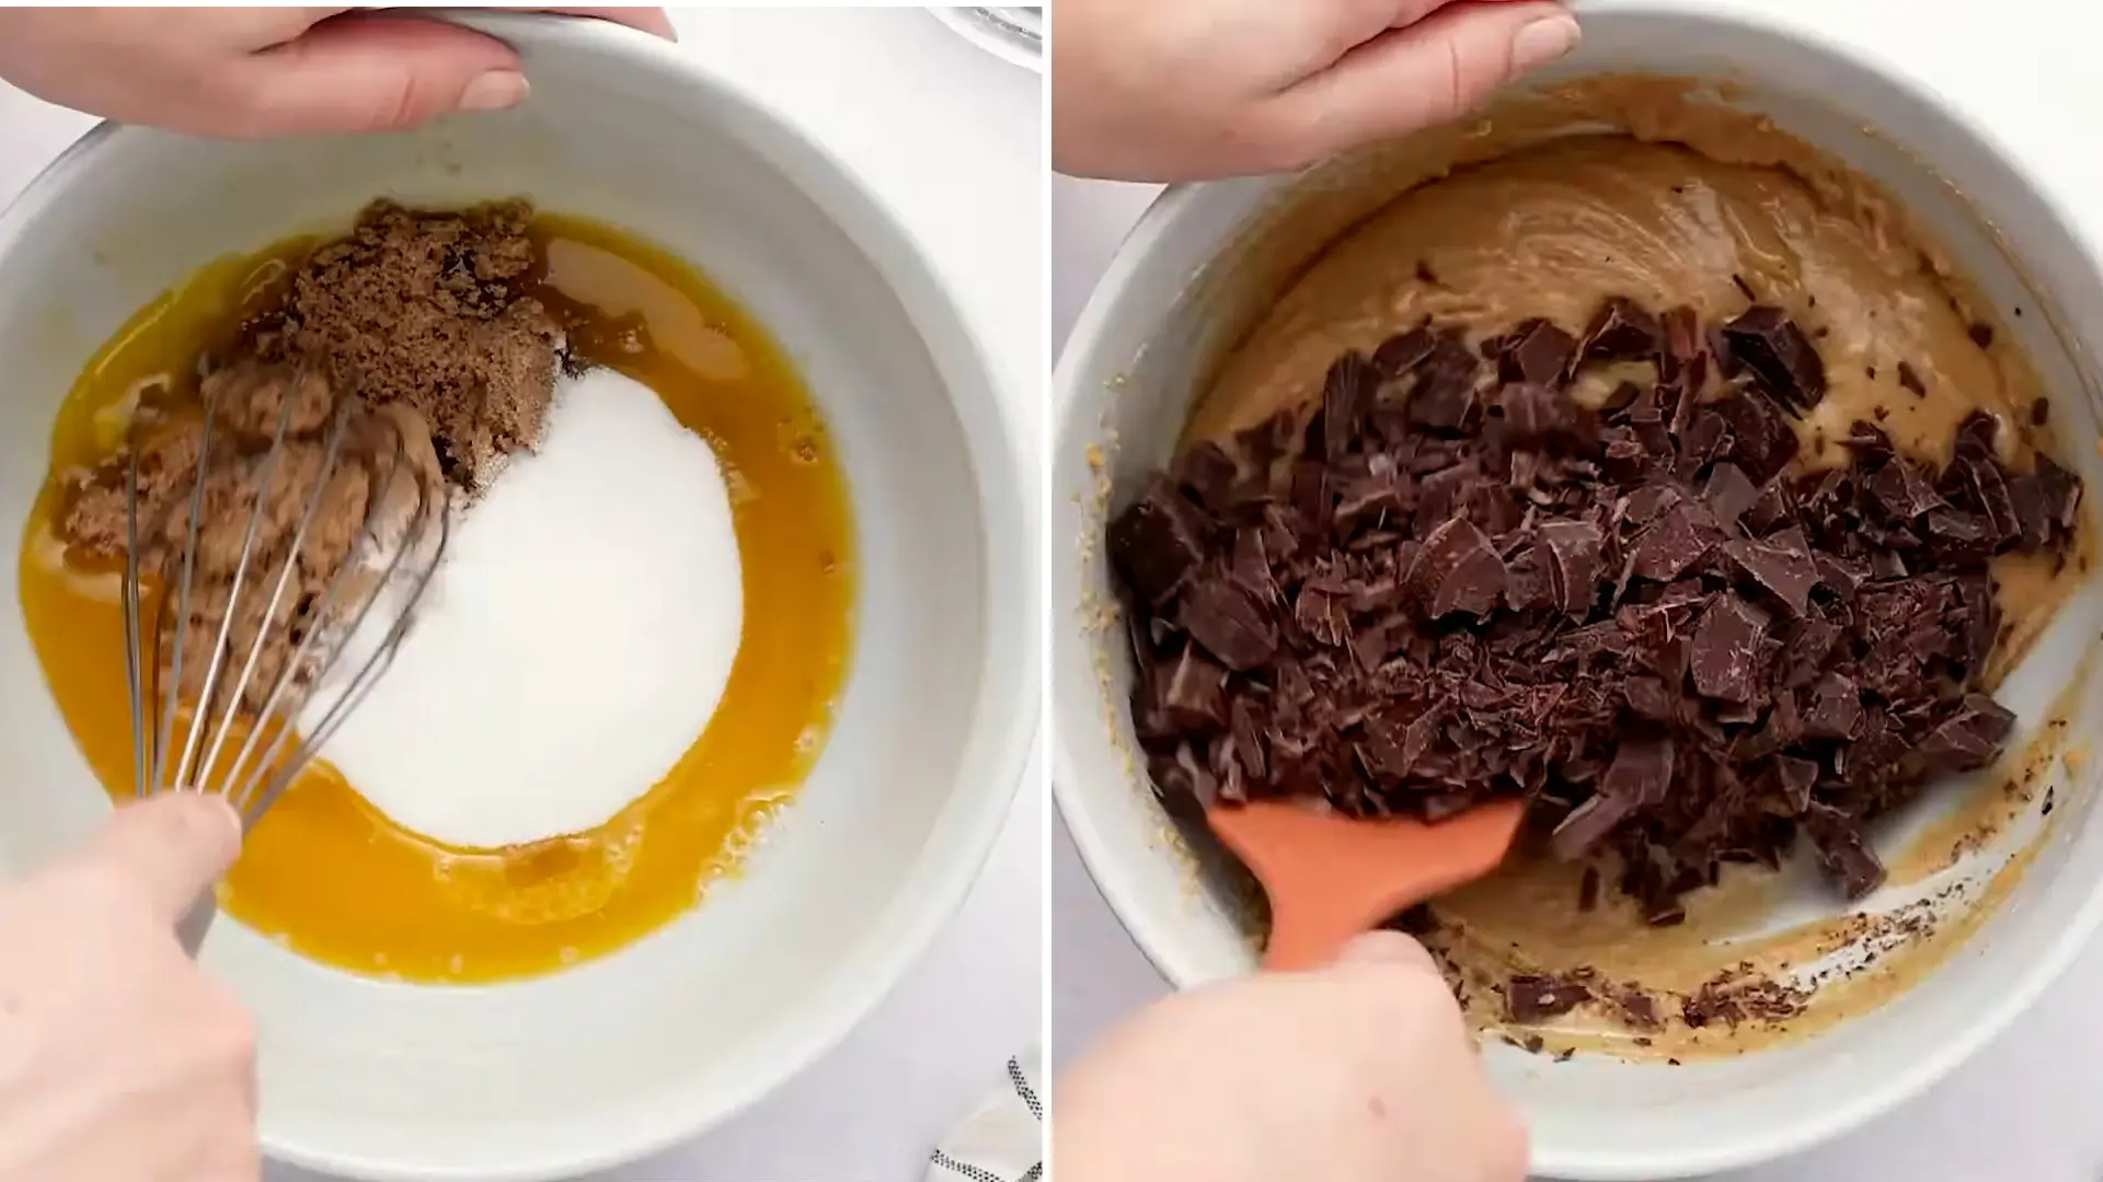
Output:
[[[345,623],[379,587],[383,564],[370,559],[400,553],[410,528],[429,524],[425,513],[444,511],[448,484],[477,492],[505,456],[538,446],[564,332],[524,294],[538,265],[530,219],[526,202],[461,212],[374,202],[242,326],[231,355],[208,358],[196,387],[145,398],[126,448],[74,484],[61,519],[67,547],[122,559],[137,456],[137,557],[147,580],[170,591],[196,507],[187,629],[177,654],[170,602],[160,652],[164,673],[181,656],[185,696],[202,694],[231,608],[227,660],[240,667],[254,648],[246,705],[261,709],[303,637]],[[244,547],[248,583],[236,597]],[[286,602],[271,614],[286,564]]]

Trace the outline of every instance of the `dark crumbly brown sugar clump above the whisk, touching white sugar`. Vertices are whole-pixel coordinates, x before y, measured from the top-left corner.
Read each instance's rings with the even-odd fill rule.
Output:
[[[294,273],[250,347],[309,364],[370,406],[414,408],[446,480],[482,490],[507,454],[540,444],[562,366],[562,326],[519,294],[536,265],[530,219],[526,202],[374,202]]]

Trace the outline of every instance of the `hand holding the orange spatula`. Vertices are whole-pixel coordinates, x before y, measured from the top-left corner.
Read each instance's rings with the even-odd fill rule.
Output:
[[[1052,1100],[1062,1182],[1523,1182],[1527,1134],[1409,936],[1171,997]]]

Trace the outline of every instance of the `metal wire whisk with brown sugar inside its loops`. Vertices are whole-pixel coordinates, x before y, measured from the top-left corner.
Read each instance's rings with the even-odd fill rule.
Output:
[[[288,541],[265,541],[269,494],[282,480],[301,475],[280,471],[292,450],[286,433],[292,408],[294,398],[286,393],[269,448],[259,454],[236,446],[231,435],[238,431],[215,442],[219,406],[206,400],[198,467],[183,496],[187,528],[168,519],[177,511],[168,507],[162,522],[147,524],[158,534],[141,530],[137,446],[130,448],[124,480],[124,673],[135,791],[223,793],[240,810],[244,831],[263,818],[393,663],[414,606],[444,555],[450,528],[446,486],[412,471],[400,423],[343,398],[330,410],[311,486],[294,488],[301,496],[299,524]],[[315,595],[318,574],[303,572],[301,557],[309,553],[330,488],[349,465],[364,467],[364,519]],[[229,526],[225,513],[208,509],[208,501],[215,501],[208,496],[215,471],[246,471],[254,477],[254,496],[246,509],[231,583],[200,597],[206,595],[198,587],[200,541],[215,526]],[[225,492],[225,484],[219,492]],[[212,509],[238,513],[238,507],[225,503]],[[387,519],[402,513],[406,522]],[[282,530],[282,519],[278,528]],[[151,545],[156,536],[166,545]],[[143,545],[151,545],[158,555],[151,583],[143,570]],[[156,599],[151,606],[149,593]],[[254,597],[267,597],[261,599],[261,610]],[[154,618],[145,620],[149,608]],[[240,620],[252,620],[252,637],[240,635],[248,631],[238,627]],[[200,635],[208,637],[206,648],[198,648],[193,629],[204,629]],[[345,663],[349,675],[343,677],[336,663],[353,639],[360,646],[370,641],[370,652]],[[275,660],[267,660],[273,641],[280,654],[290,648],[275,673],[267,669]],[[191,663],[189,671],[185,660]],[[301,726],[307,730],[301,732]],[[215,915],[217,904],[208,892],[179,928],[191,955]]]

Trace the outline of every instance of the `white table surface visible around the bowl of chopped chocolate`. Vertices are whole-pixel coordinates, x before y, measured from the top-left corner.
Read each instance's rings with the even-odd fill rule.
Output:
[[[1691,0],[1693,2],[1693,0]],[[1716,4],[1718,0],[1710,0]],[[1579,0],[1579,15],[1584,0]],[[1762,0],[1773,19],[1899,63],[2004,139],[2103,242],[2103,13],[2057,0]],[[1052,183],[1052,315],[1064,343],[1150,185]],[[2103,252],[2097,254],[2103,259]],[[1054,1066],[1165,984],[1119,928],[1064,824],[1052,852]],[[2006,1037],[1926,1096],[1731,1182],[2095,1182],[2103,1178],[2103,946]]]

